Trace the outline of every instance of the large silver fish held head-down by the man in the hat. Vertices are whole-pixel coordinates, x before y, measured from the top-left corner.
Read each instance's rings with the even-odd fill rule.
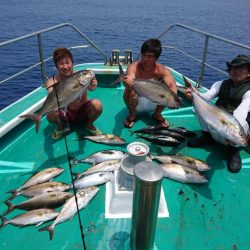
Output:
[[[185,77],[184,81],[186,86],[192,89],[193,105],[197,116],[207,125],[213,138],[223,144],[247,146],[248,136],[238,120],[227,111],[202,98]]]

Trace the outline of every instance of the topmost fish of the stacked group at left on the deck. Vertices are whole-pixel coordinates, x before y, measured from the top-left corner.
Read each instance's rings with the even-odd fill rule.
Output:
[[[20,188],[9,191],[10,193],[18,193],[23,189],[37,185],[39,183],[50,181],[52,178],[60,175],[64,171],[63,168],[47,168],[31,176]],[[15,196],[14,196],[15,197]]]

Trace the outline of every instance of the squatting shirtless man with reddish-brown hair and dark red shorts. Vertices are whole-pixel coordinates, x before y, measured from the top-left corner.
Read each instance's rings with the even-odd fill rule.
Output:
[[[48,93],[53,91],[53,85],[61,81],[65,77],[73,74],[73,56],[66,48],[58,48],[54,51],[53,59],[55,66],[58,70],[58,75],[50,78],[46,82]],[[94,90],[97,86],[97,81],[94,79],[89,85],[89,90]],[[47,114],[47,119],[51,123],[55,123],[58,127],[52,133],[53,139],[59,139],[63,131],[66,129],[67,122],[76,123],[84,121],[86,130],[92,135],[99,135],[102,132],[94,126],[94,121],[99,117],[102,112],[102,104],[97,99],[88,100],[87,90],[83,92],[80,99],[75,100],[68,105],[67,111],[64,114],[62,111],[50,112]]]

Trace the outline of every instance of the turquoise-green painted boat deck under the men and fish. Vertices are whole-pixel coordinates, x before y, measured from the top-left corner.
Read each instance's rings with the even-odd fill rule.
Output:
[[[128,112],[123,102],[123,85],[108,86],[117,74],[109,74],[107,68],[102,71],[96,65],[79,65],[77,70],[96,68],[99,87],[89,92],[90,98],[98,98],[103,103],[103,113],[95,125],[103,133],[115,134],[128,143],[141,141],[147,144],[151,154],[174,154],[196,157],[206,161],[211,170],[205,175],[206,184],[183,184],[164,178],[162,188],[165,194],[169,217],[158,218],[155,249],[249,249],[249,204],[250,158],[245,150],[240,154],[243,169],[232,174],[226,168],[226,151],[220,144],[204,148],[188,148],[186,141],[177,147],[159,147],[146,142],[124,128],[123,121]],[[106,67],[106,66],[105,66]],[[99,70],[99,73],[98,73]],[[181,82],[179,74],[174,73],[177,82]],[[180,94],[181,95],[181,94]],[[191,103],[183,97],[183,106],[178,110],[163,112],[172,127],[185,127],[200,134],[200,126],[193,112]],[[140,115],[131,130],[153,124],[150,116]],[[82,159],[94,152],[105,149],[122,149],[125,146],[108,146],[88,140],[77,140],[79,134],[87,134],[83,127],[71,128],[66,138],[53,140],[51,133],[55,126],[49,124],[45,117],[36,134],[34,124],[25,120],[1,138],[0,182],[2,195],[0,213],[7,206],[4,201],[10,196],[6,192],[17,189],[35,171],[52,166],[65,169],[64,173],[54,180],[71,183],[68,153],[71,158]],[[11,160],[10,160],[11,159]],[[73,172],[79,173],[90,165],[78,164]],[[87,249],[129,249],[131,219],[105,218],[105,185],[80,211],[84,239]],[[25,200],[16,197],[12,202],[17,204]],[[59,210],[59,209],[58,209]],[[22,213],[14,210],[7,219]],[[46,223],[49,224],[49,223]],[[1,249],[79,249],[82,239],[77,216],[55,227],[54,238],[49,240],[48,232],[38,232],[43,227],[27,226],[21,229],[6,225],[1,229]]]

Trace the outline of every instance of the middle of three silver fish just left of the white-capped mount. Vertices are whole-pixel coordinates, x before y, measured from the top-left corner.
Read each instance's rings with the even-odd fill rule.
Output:
[[[77,174],[76,177],[80,178],[83,175],[89,175],[97,172],[113,172],[119,169],[120,166],[121,166],[121,159],[104,161],[93,165],[92,167],[84,171],[82,174]]]

